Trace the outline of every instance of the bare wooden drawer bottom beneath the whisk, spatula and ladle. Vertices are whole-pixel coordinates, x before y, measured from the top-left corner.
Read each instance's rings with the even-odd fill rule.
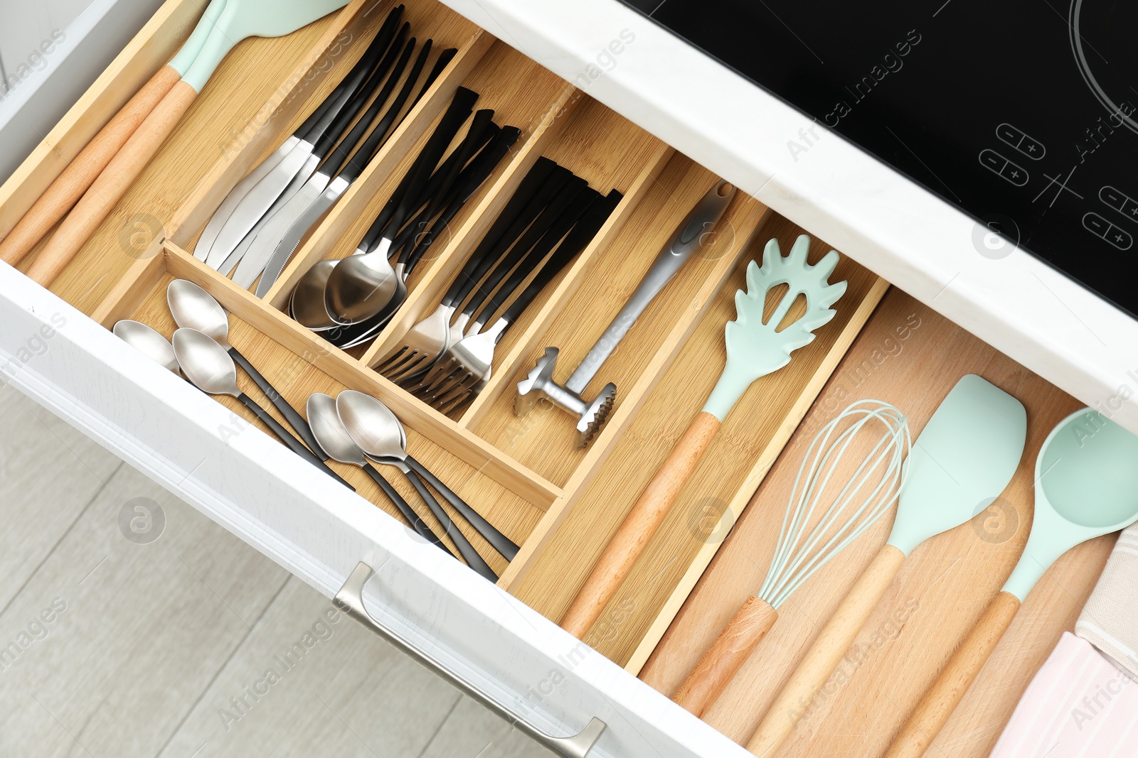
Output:
[[[761,585],[799,464],[822,424],[858,398],[877,398],[900,408],[916,436],[966,373],[980,374],[1026,407],[1028,443],[1020,469],[975,519],[933,538],[905,560],[823,697],[776,753],[882,755],[1019,559],[1031,526],[1036,456],[1050,428],[1080,406],[897,290],[885,297],[834,372],[641,678],[673,692],[739,605]],[[704,720],[742,744],[749,741],[890,528],[891,518],[883,518],[778,609],[778,624]],[[1112,543],[1113,538],[1087,542],[1048,569],[927,755],[979,758],[991,751],[1028,682],[1062,632],[1073,628]]]

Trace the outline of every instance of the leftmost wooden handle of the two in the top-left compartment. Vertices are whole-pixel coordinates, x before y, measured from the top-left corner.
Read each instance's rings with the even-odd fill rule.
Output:
[[[0,242],[0,259],[15,266],[83,197],[110,159],[182,76],[163,66],[86,143]]]

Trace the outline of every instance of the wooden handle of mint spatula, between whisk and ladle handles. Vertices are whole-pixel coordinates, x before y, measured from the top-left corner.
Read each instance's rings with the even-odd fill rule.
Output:
[[[883,545],[874,556],[778,692],[751,738],[748,750],[757,756],[769,756],[786,741],[799,719],[814,705],[815,694],[822,691],[842,656],[853,644],[869,614],[881,602],[904,560],[905,553],[891,544]]]

